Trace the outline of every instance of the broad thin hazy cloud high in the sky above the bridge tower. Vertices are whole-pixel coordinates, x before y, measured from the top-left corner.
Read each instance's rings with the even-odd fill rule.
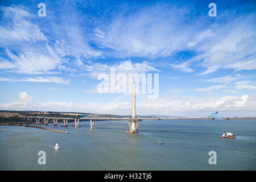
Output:
[[[108,23],[102,20],[102,26],[94,32],[98,46],[112,49],[117,57],[164,57],[187,47],[189,32],[194,28],[186,22],[188,7],[158,3],[133,14],[127,11],[130,7],[123,6]]]

